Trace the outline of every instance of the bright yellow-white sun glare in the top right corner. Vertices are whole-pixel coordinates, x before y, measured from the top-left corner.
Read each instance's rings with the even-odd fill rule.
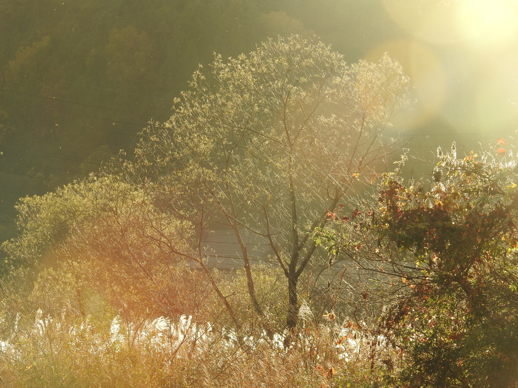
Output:
[[[517,0],[382,0],[407,38],[387,42],[419,103],[410,118],[439,114],[452,129],[510,131],[518,103]]]

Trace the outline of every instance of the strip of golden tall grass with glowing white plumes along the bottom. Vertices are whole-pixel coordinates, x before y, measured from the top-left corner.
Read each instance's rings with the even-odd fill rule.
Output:
[[[379,338],[352,322],[294,332],[289,349],[282,336],[215,330],[192,317],[159,317],[135,325],[115,316],[45,316],[19,319],[2,342],[0,374],[8,387],[361,387],[381,376],[386,349]],[[0,384],[0,385],[2,385]]]

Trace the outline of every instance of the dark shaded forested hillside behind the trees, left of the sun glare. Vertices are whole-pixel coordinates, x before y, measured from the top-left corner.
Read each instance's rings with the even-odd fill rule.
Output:
[[[170,116],[172,99],[214,51],[226,58],[278,34],[316,34],[355,62],[365,50],[358,44],[375,39],[362,31],[382,28],[351,5],[320,7],[335,11],[316,20],[311,2],[288,0],[2,2],[0,34],[9,39],[0,42],[0,240],[12,234],[17,198],[131,150],[149,120]],[[342,33],[354,25],[360,40]]]

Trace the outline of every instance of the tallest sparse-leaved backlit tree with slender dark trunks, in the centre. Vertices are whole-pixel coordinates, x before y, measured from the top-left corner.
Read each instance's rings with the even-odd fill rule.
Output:
[[[396,149],[383,130],[407,103],[408,78],[388,56],[348,66],[294,36],[227,62],[217,56],[190,85],[170,120],[143,132],[135,169],[196,224],[200,242],[215,222],[233,231],[260,316],[254,252],[243,241],[266,245],[288,282],[286,327],[295,327],[298,279],[318,260],[311,235]]]

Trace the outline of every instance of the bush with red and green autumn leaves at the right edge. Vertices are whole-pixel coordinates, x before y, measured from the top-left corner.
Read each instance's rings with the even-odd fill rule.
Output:
[[[390,386],[518,381],[518,167],[502,150],[439,148],[429,189],[384,174],[375,205],[359,202],[348,219],[337,210],[319,236],[384,285],[379,333],[405,354],[399,370],[386,363]]]

